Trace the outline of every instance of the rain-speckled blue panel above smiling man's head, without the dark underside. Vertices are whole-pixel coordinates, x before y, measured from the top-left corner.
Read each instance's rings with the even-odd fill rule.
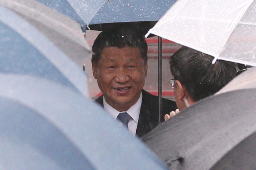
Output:
[[[108,0],[89,23],[158,21],[176,0]]]

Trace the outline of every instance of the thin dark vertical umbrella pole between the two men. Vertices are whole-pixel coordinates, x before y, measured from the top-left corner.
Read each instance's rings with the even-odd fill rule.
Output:
[[[158,102],[159,122],[162,118],[162,37],[158,37]]]

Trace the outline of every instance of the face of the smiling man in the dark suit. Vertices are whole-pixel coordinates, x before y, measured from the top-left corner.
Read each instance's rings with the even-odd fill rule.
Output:
[[[148,69],[139,48],[104,48],[98,63],[92,66],[93,76],[110,106],[122,112],[137,102]]]

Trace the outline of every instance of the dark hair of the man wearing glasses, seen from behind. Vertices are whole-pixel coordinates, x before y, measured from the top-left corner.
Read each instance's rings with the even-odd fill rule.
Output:
[[[169,60],[175,80],[185,86],[194,101],[213,95],[236,76],[236,63],[217,60],[197,50],[181,47]]]

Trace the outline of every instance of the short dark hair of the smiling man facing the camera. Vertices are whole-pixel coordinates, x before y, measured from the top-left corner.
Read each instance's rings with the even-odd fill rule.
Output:
[[[145,64],[148,61],[148,45],[143,34],[140,34],[131,29],[119,29],[102,31],[98,37],[94,40],[92,46],[92,58],[91,60],[98,63],[101,57],[101,52],[106,47],[118,47],[123,48],[125,46],[138,47],[141,57]]]

